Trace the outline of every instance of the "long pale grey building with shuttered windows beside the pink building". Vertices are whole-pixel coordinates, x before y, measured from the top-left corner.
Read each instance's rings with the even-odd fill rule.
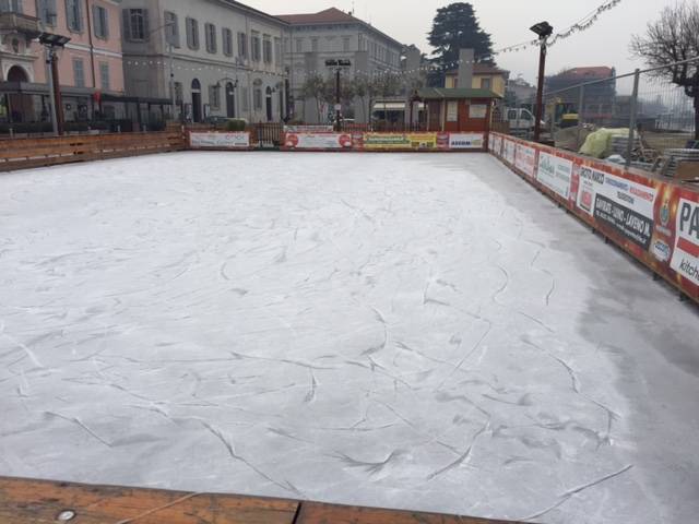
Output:
[[[170,99],[171,74],[177,118],[286,117],[285,22],[227,0],[123,0],[121,23],[130,96]]]

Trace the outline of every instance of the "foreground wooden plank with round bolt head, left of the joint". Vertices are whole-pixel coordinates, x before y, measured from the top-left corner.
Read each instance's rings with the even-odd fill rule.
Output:
[[[293,524],[298,502],[0,477],[0,522],[56,524]]]

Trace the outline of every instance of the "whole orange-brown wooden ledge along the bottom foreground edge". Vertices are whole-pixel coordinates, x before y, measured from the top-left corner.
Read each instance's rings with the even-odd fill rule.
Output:
[[[296,500],[0,477],[2,524],[507,524]]]

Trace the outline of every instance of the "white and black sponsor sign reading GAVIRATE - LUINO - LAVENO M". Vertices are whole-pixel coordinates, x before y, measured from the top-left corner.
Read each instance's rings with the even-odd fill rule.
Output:
[[[656,190],[591,167],[580,168],[578,206],[649,251]]]

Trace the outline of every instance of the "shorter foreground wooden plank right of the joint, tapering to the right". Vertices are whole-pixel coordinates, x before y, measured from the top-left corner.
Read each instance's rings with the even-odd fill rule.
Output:
[[[469,516],[304,502],[296,524],[518,524]],[[522,524],[522,523],[520,523]]]

